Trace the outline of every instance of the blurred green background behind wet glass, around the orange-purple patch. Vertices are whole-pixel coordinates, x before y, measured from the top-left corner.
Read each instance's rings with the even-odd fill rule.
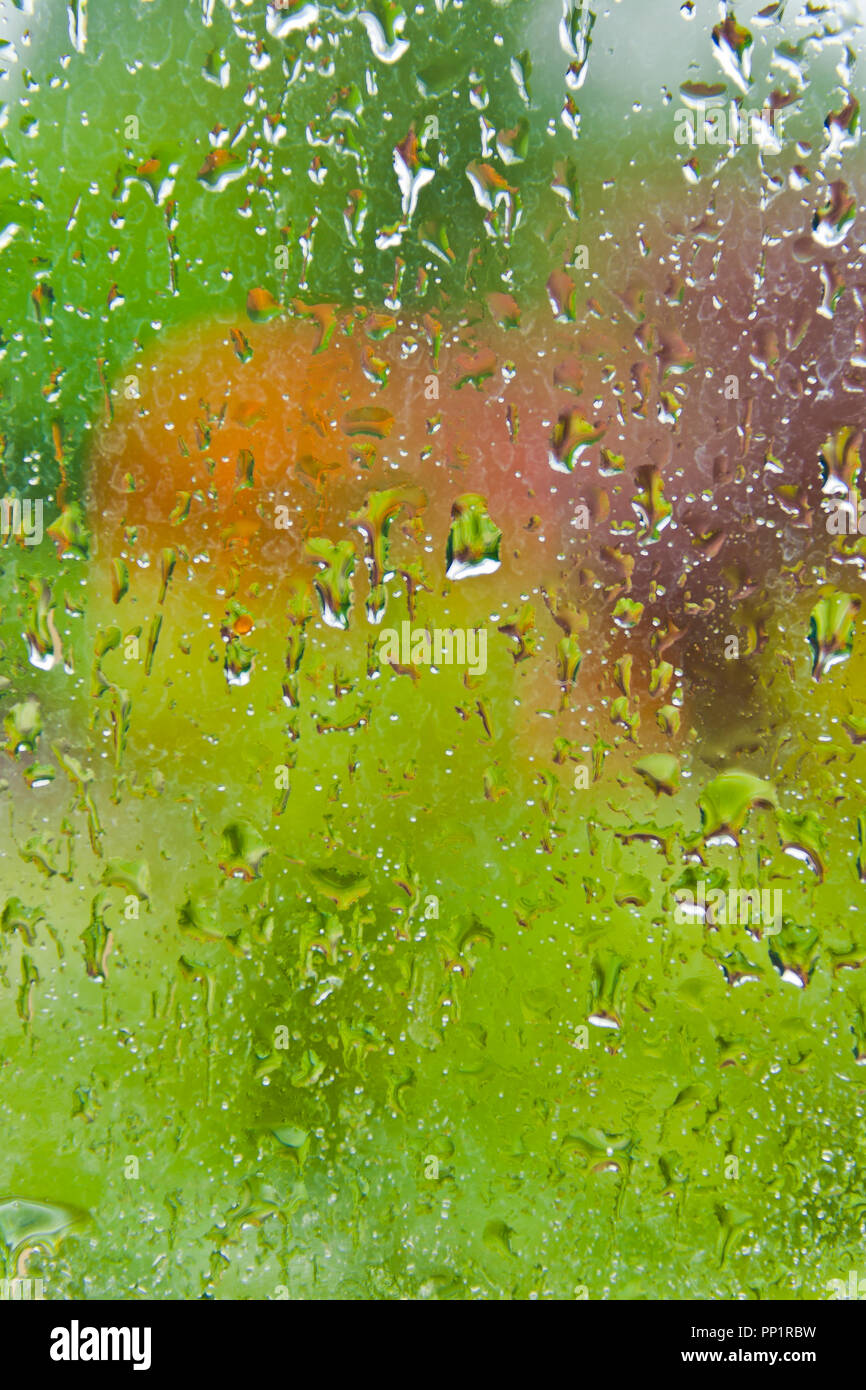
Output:
[[[740,90],[701,0],[0,6],[3,470],[61,517],[42,546],[0,550],[8,1276],[51,1298],[803,1298],[859,1268],[863,655],[855,639],[817,684],[806,644],[823,596],[858,595],[859,541],[830,559],[785,532],[742,599],[763,632],[749,676],[719,642],[676,676],[671,795],[637,769],[646,730],[592,688],[557,719],[544,671],[544,755],[516,746],[552,626],[528,674],[492,653],[482,731],[457,673],[424,684],[420,716],[409,681],[364,684],[318,624],[313,656],[345,659],[373,717],[307,737],[284,805],[271,687],[229,691],[167,644],[154,680],[129,674],[89,616],[89,431],[174,325],[243,328],[253,288],[411,316],[503,292],[541,316],[587,245],[575,346],[598,329],[588,299],[635,267],[662,295],[671,247],[710,259],[684,309],[709,335],[724,259],[734,284],[759,279],[760,259],[737,261],[738,199],[758,245],[791,235],[799,265],[790,170],[838,175],[824,118],[856,92],[862,40],[842,7],[763,25],[758,8],[737,10],[745,103],[792,95],[783,163],[705,150],[687,178],[683,83]],[[838,317],[805,342],[809,392],[767,407],[788,441],[819,377],[838,425],[860,410],[838,356],[859,254],[853,235]],[[713,430],[705,411],[692,457]],[[820,492],[816,455],[783,461]],[[152,742],[154,719],[177,734]],[[721,783],[738,844],[708,847],[701,801],[731,769],[771,781],[777,808]],[[723,887],[781,887],[781,935],[677,926],[701,863]]]

